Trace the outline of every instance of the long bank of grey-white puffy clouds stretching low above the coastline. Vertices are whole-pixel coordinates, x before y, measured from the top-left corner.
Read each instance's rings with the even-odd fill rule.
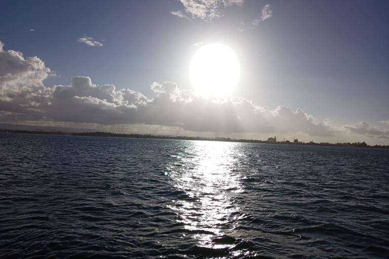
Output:
[[[327,122],[316,122],[302,109],[254,105],[245,98],[205,98],[178,88],[174,82],[150,85],[152,99],[114,85],[98,87],[91,78],[75,76],[69,85],[48,88],[43,81],[51,70],[37,58],[4,51],[0,41],[0,121],[56,121],[101,125],[161,125],[192,132],[294,133],[332,137],[338,133]],[[346,125],[343,131],[388,137],[366,122]],[[381,137],[381,138],[384,138]]]

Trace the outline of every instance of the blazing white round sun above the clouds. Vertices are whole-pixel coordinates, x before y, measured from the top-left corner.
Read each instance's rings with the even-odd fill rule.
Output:
[[[203,96],[224,97],[236,88],[241,69],[234,51],[222,44],[208,44],[193,56],[189,79]]]

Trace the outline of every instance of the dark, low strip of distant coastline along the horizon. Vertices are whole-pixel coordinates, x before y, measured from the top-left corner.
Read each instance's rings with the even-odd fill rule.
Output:
[[[2,133],[19,133],[19,134],[43,134],[43,135],[69,135],[69,136],[89,136],[89,137],[114,137],[114,138],[134,138],[134,139],[171,139],[171,140],[201,140],[201,141],[222,141],[222,142],[241,142],[241,143],[263,143],[263,144],[281,144],[281,145],[297,145],[297,146],[324,146],[324,147],[352,147],[352,148],[383,148],[389,149],[389,145],[367,145],[365,142],[355,143],[315,143],[310,141],[304,142],[289,142],[278,141],[269,142],[267,140],[247,140],[247,139],[231,139],[231,138],[204,138],[204,137],[186,137],[186,136],[165,136],[165,135],[151,135],[151,134],[123,134],[111,132],[82,132],[82,133],[67,133],[61,131],[26,131],[26,130],[8,130],[1,128]]]

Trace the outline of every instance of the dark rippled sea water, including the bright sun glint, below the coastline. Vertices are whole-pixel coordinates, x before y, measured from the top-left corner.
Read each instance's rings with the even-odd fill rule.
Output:
[[[0,134],[0,258],[388,258],[388,186],[388,150]]]

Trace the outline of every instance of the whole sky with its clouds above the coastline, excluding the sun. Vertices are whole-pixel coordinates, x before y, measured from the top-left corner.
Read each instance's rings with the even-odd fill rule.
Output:
[[[388,1],[19,1],[0,9],[0,122],[389,145]],[[209,44],[239,82],[202,96]]]

